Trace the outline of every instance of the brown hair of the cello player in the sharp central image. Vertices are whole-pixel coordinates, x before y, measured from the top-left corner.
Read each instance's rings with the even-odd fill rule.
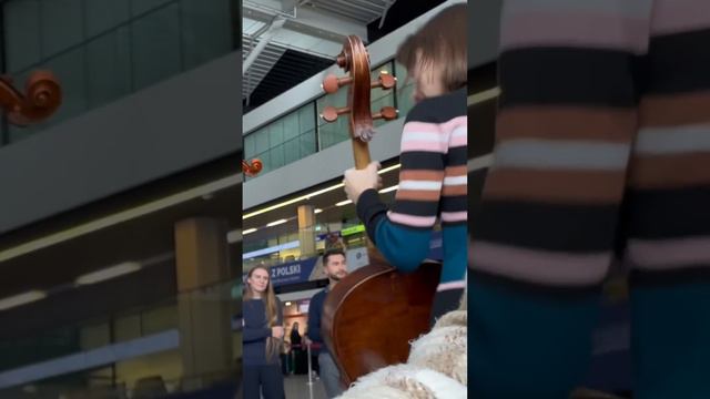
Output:
[[[432,18],[399,45],[397,62],[407,71],[439,65],[447,92],[465,86],[468,81],[467,9],[466,3],[454,4]]]

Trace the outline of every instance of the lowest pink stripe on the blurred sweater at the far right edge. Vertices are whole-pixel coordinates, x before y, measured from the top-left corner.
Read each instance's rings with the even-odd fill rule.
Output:
[[[635,267],[662,270],[710,264],[710,237],[663,241],[630,239],[628,258]]]

